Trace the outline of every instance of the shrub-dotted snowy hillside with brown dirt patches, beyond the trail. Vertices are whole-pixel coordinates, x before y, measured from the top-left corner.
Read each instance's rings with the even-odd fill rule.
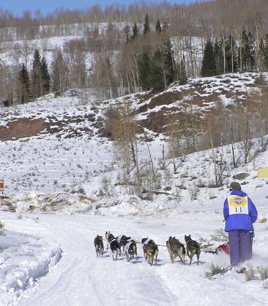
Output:
[[[204,114],[214,109],[217,101],[222,101],[228,109],[232,104],[241,103],[251,92],[259,94],[258,77],[257,73],[243,73],[192,79],[185,86],[174,84],[159,94],[144,92],[100,103],[90,101],[90,92],[87,91],[78,91],[75,96],[66,92],[63,98],[48,95],[27,105],[2,108],[0,138],[4,154],[0,173],[8,196],[2,199],[2,205],[18,211],[64,211],[73,205],[74,213],[105,213],[106,206],[118,207],[126,201],[129,212],[133,214],[150,214],[154,207],[165,212],[175,208],[202,210],[204,201],[213,206],[214,199],[223,198],[227,189],[213,188],[211,149],[176,158],[178,170],[174,173],[173,164],[168,159],[165,118],[170,110],[179,113],[185,96],[190,94],[193,112],[202,121],[206,118]],[[151,171],[151,154],[159,173],[158,186],[152,190],[154,201],[146,209],[143,203],[147,196],[144,194],[143,200],[133,196],[132,183],[123,183],[126,180],[121,168],[124,161],[115,159],[114,142],[104,137],[111,129],[106,117],[107,109],[126,103],[141,127],[138,134],[141,166],[145,171]],[[266,152],[258,153],[260,140],[251,141],[246,165],[243,164],[243,143],[236,143],[234,149],[237,168],[233,168],[229,145],[223,147],[223,154],[221,148],[215,149],[216,159],[224,161],[224,186],[238,179],[236,175],[242,172],[240,181],[245,187],[250,182],[250,188],[265,188],[265,180],[257,179],[258,167],[267,166]],[[160,166],[163,163],[164,168]],[[217,167],[219,170],[220,164]],[[134,171],[131,177],[135,180]],[[20,208],[17,201],[21,202]],[[165,204],[162,205],[161,201]],[[115,208],[113,210],[116,212]]]

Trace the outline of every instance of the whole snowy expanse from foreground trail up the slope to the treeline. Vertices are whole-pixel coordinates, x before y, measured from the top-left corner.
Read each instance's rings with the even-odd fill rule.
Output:
[[[162,306],[186,305],[190,300],[193,305],[207,305],[214,304],[219,291],[227,293],[225,303],[230,305],[259,305],[267,299],[267,281],[258,268],[267,268],[268,254],[268,179],[257,176],[259,167],[268,167],[268,152],[259,151],[260,140],[252,140],[246,165],[241,161],[243,144],[234,145],[237,168],[232,167],[231,147],[223,147],[226,179],[222,187],[213,188],[211,150],[177,158],[174,173],[166,155],[167,136],[149,124],[157,112],[178,106],[189,90],[198,112],[212,108],[218,98],[226,105],[234,103],[230,91],[243,99],[243,93],[259,90],[258,75],[193,79],[155,96],[139,93],[98,104],[80,91],[75,96],[71,92],[64,98],[48,95],[27,105],[2,108],[0,179],[6,189],[0,197],[0,221],[6,236],[0,235],[0,304],[131,305],[135,300]],[[159,173],[152,201],[135,195],[131,184],[124,182],[123,163],[115,162],[113,141],[103,136],[106,110],[124,101],[130,101],[137,120],[143,122],[140,164],[145,167],[151,154]],[[215,154],[220,160],[221,148]],[[95,258],[93,239],[106,231],[138,242],[149,236],[159,245],[165,245],[169,236],[184,242],[184,235],[191,234],[214,250],[224,241],[211,235],[224,228],[223,201],[234,180],[249,193],[259,213],[251,261],[258,279],[246,282],[245,274],[236,270],[205,277],[212,262],[229,265],[225,254],[202,252],[200,266],[189,266],[188,261],[181,266],[171,264],[161,246],[158,265],[150,267],[138,245],[138,256],[130,263],[125,258],[112,261],[110,251]],[[251,266],[245,266],[250,271]]]

